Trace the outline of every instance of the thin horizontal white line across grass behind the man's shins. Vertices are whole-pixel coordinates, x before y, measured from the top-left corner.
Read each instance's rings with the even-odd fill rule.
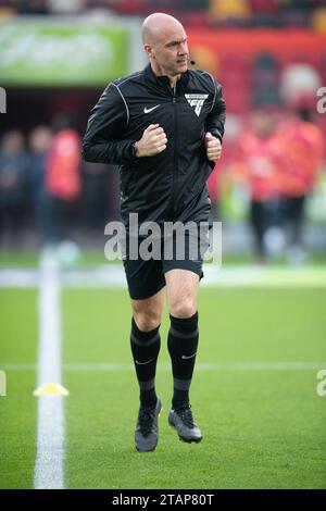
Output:
[[[0,369],[3,371],[35,371],[35,364],[28,363],[1,363]],[[198,362],[196,364],[197,371],[311,371],[326,369],[325,362]],[[66,363],[62,364],[64,372],[117,372],[117,371],[134,371],[133,364],[123,363]],[[158,365],[158,371],[171,371],[170,364]]]

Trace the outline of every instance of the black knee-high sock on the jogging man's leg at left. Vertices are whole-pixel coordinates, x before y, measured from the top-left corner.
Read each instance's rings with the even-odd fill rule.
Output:
[[[140,402],[145,407],[154,407],[156,403],[155,372],[160,352],[160,325],[150,332],[142,332],[133,317],[130,345],[135,369],[140,388]]]

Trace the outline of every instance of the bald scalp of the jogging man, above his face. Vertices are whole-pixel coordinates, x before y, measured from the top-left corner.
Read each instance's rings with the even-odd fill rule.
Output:
[[[162,12],[150,14],[142,23],[141,37],[143,45],[153,45],[162,34],[183,30],[184,27],[175,17]]]

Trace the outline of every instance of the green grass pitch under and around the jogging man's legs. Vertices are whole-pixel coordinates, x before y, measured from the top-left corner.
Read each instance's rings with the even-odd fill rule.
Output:
[[[200,290],[200,347],[191,387],[204,439],[180,443],[167,425],[172,376],[161,328],[160,441],[134,448],[138,387],[130,369],[125,290],[62,291],[67,488],[326,488],[326,397],[316,369],[246,369],[251,362],[325,362],[325,289]],[[37,290],[0,289],[0,488],[32,488],[36,456]],[[120,363],[76,371],[78,363]],[[218,370],[204,363],[222,364]],[[27,364],[21,365],[20,364]],[[226,365],[223,365],[226,364]],[[10,367],[10,366],[9,366]],[[202,369],[200,369],[202,367]],[[326,369],[326,367],[325,367]]]

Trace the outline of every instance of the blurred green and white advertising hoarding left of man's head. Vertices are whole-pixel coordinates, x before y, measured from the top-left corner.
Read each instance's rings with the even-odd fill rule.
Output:
[[[102,87],[129,70],[129,33],[106,22],[0,23],[0,86]]]

